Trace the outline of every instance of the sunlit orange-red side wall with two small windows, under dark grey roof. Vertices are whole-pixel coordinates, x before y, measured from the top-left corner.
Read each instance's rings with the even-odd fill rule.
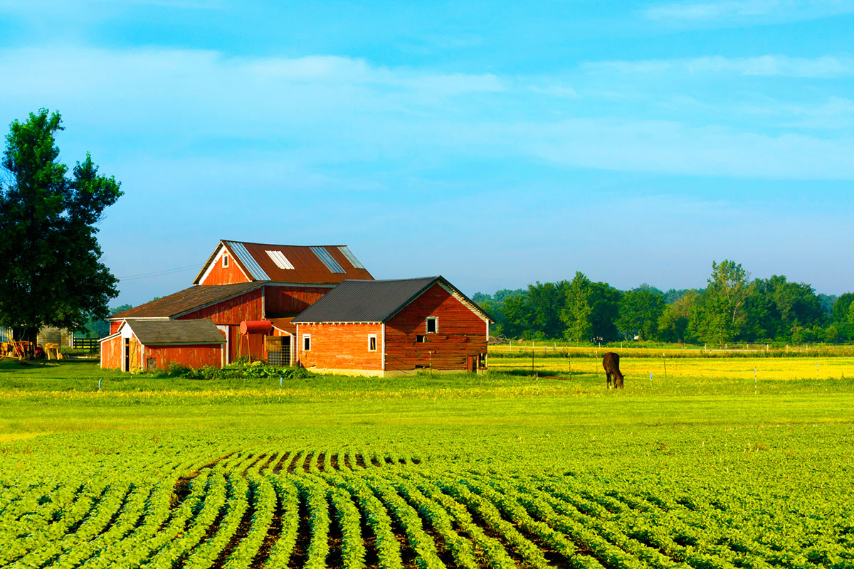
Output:
[[[312,335],[302,350],[302,335]],[[368,351],[368,334],[377,334],[377,351]],[[300,362],[317,369],[383,369],[382,324],[300,324],[296,338]]]

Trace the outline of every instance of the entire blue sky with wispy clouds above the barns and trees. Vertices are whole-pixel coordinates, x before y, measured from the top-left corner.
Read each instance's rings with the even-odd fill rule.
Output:
[[[0,124],[59,110],[126,191],[114,305],[221,238],[468,293],[723,258],[854,289],[851,1],[0,0],[0,70]]]

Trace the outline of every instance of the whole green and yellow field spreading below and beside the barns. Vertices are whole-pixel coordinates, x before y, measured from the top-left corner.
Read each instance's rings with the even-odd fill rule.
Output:
[[[854,567],[854,358],[624,357],[617,392],[507,356],[281,386],[0,361],[0,566]]]

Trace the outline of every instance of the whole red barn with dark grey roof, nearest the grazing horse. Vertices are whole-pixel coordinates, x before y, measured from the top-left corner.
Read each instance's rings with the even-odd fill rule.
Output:
[[[493,320],[442,276],[344,281],[291,320],[315,371],[391,377],[483,371]]]

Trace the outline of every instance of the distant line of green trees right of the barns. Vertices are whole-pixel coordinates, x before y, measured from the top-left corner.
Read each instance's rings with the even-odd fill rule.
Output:
[[[711,266],[703,289],[663,292],[643,284],[620,291],[576,272],[571,281],[477,293],[473,300],[495,318],[493,334],[509,338],[720,345],[854,340],[854,293],[816,294],[785,276],[750,280],[730,260]]]

